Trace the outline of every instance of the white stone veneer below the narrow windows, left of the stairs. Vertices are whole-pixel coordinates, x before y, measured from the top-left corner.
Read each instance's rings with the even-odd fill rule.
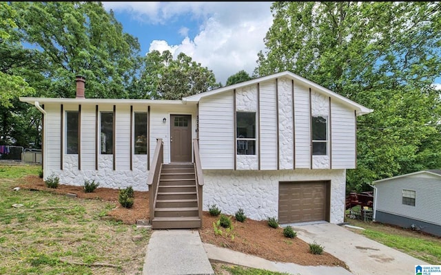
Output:
[[[99,182],[99,187],[118,189],[132,186],[136,191],[148,190],[147,155],[133,156],[133,170],[118,170],[118,163],[113,170],[112,155],[99,155],[98,170],[90,170],[89,167],[78,170],[78,155],[64,155],[63,159],[63,170],[50,170],[45,173],[46,178],[53,173],[60,177],[60,184],[83,186],[86,179],[94,179]]]

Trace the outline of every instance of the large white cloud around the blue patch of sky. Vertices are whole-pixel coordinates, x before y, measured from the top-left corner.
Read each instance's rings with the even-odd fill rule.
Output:
[[[211,69],[218,82],[240,70],[252,74],[257,53],[265,49],[263,39],[272,23],[271,2],[103,2],[108,10],[130,12],[139,21],[166,24],[176,17],[189,16],[201,22],[198,34],[189,37],[183,26],[179,34],[185,39],[178,45],[153,40],[150,49],[170,50],[177,56],[184,52],[193,61]]]

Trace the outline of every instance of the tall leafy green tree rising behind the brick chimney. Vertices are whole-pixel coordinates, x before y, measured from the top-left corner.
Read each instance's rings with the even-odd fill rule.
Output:
[[[88,98],[126,98],[139,43],[101,2],[10,2],[23,41],[48,63],[48,96],[72,98],[76,75]]]

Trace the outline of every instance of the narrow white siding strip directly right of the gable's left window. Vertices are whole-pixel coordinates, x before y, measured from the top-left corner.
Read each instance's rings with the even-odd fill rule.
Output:
[[[277,170],[276,81],[260,83],[260,168]]]

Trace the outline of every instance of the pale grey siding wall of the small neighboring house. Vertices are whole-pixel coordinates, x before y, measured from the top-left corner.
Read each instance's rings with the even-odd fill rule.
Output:
[[[441,225],[441,177],[409,175],[380,181],[376,188],[377,211]],[[416,191],[415,206],[402,204],[403,189]]]

